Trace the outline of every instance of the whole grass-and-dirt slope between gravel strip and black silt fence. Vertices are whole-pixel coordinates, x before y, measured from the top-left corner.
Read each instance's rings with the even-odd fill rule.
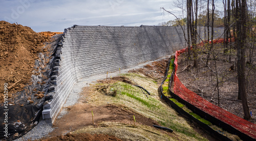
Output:
[[[158,86],[166,64],[167,59],[161,60],[131,70],[133,73],[121,74],[108,81],[98,80],[84,87],[79,102],[62,109],[60,113],[68,114],[60,114],[53,126],[55,130],[42,140],[79,140],[84,134],[93,137],[107,134],[121,140],[215,140],[161,101]],[[133,84],[142,86],[151,95]],[[174,132],[154,128],[153,124]],[[111,140],[109,136],[101,139]]]

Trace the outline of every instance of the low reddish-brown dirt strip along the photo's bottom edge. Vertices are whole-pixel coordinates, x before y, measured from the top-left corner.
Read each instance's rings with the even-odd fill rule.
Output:
[[[44,141],[55,141],[55,140],[122,140],[113,135],[104,135],[104,134],[89,134],[89,133],[81,133],[81,134],[71,134],[67,133],[66,135],[59,135],[50,139],[44,139]]]

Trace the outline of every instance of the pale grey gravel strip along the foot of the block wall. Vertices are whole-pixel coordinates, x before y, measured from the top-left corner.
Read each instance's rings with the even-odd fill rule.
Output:
[[[168,57],[169,56],[166,56],[166,57],[154,60],[154,61],[159,61],[159,60],[162,60],[162,59],[165,59]],[[132,66],[130,68],[122,69],[120,71],[121,71],[121,73],[128,73],[129,70],[142,68],[144,65],[150,64],[154,61],[144,62],[137,66]],[[114,76],[118,76],[118,75],[119,75],[119,70],[117,70],[115,72],[110,72],[110,73],[108,73],[108,78],[110,78],[111,76],[114,77]],[[96,83],[96,80],[105,79],[105,78],[106,78],[106,74],[101,74],[101,75],[90,76],[86,79],[81,79],[81,80],[79,80],[79,82],[75,83],[67,100],[66,100],[66,103],[63,105],[62,110],[59,112],[57,119],[68,114],[66,107],[72,106],[77,103],[78,99],[80,98],[80,93],[82,92],[83,87],[89,87],[90,84]],[[39,123],[32,130],[30,130],[24,136],[22,136],[18,139],[15,139],[15,141],[25,141],[28,139],[31,139],[31,140],[39,139],[39,138],[47,136],[53,130],[54,130],[54,128],[52,128],[50,125],[48,125],[44,120],[40,119]]]

